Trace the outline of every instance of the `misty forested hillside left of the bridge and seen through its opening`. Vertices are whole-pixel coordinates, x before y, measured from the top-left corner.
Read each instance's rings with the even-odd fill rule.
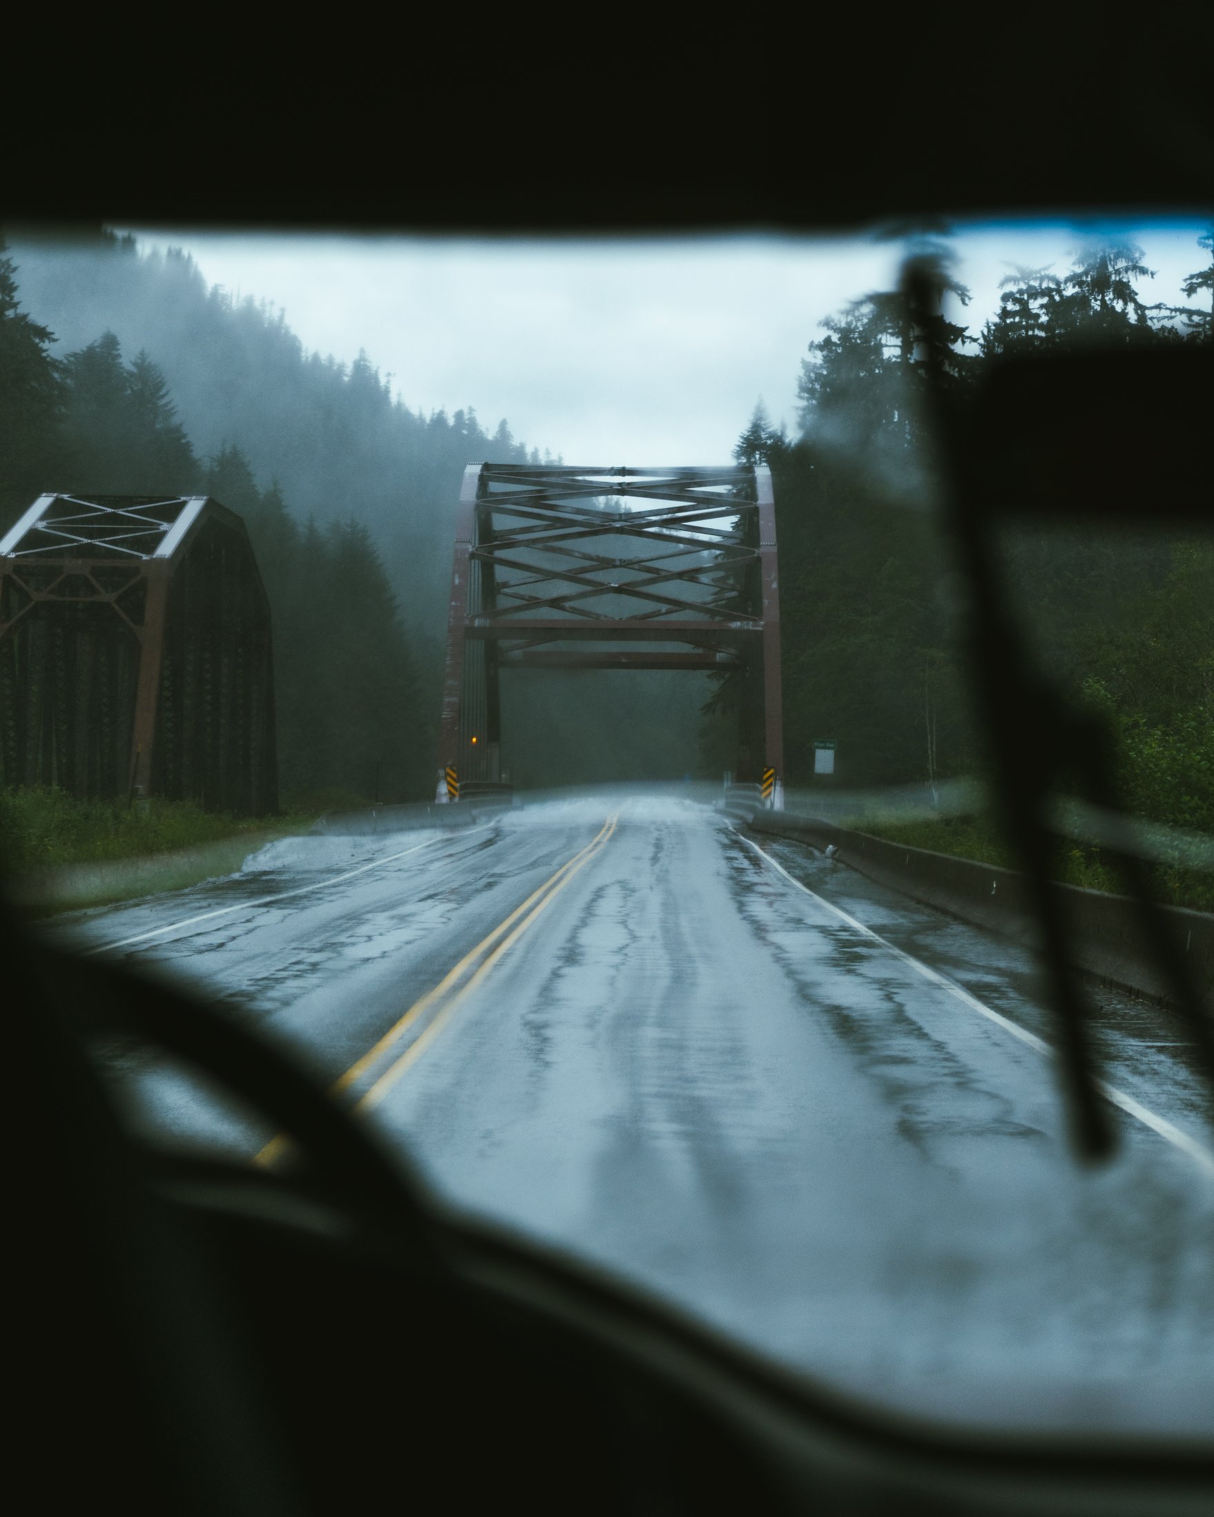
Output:
[[[49,487],[209,490],[249,522],[270,589],[285,792],[373,796],[379,766],[385,796],[432,793],[461,475],[540,455],[504,420],[486,434],[472,410],[410,411],[366,356],[344,367],[305,352],[281,311],[208,287],[188,255],[141,255],[108,232],[26,238],[8,278],[5,331],[24,334],[29,372],[0,402],[12,417],[0,513]],[[326,567],[338,543],[341,583]],[[373,564],[367,596],[352,590],[352,555]],[[695,768],[703,677],[613,674],[605,701],[599,678],[504,680],[517,783]]]

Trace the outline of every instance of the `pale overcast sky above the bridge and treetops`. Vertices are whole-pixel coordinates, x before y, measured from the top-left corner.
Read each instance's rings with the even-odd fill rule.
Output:
[[[1124,232],[1126,229],[1120,229]],[[1181,302],[1205,256],[1199,226],[1134,228],[1143,297]],[[349,363],[366,349],[413,410],[475,407],[492,431],[577,464],[728,460],[759,396],[795,429],[797,375],[818,323],[889,288],[900,244],[871,238],[486,241],[162,232],[209,284],[285,311],[305,347]],[[997,308],[1012,264],[1067,267],[1090,232],[970,228],[955,235],[974,293]]]

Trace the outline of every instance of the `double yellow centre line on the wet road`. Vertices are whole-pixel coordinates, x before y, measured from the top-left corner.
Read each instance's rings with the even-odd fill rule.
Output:
[[[367,1051],[357,1059],[338,1080],[334,1082],[329,1088],[329,1094],[344,1095],[351,1086],[366,1079],[375,1069],[375,1066],[387,1053],[390,1053],[392,1048],[395,1048],[395,1045],[411,1027],[417,1025],[426,1013],[434,1012],[431,1021],[422,1033],[413,1039],[405,1051],[399,1054],[382,1071],[382,1074],[379,1074],[375,1083],[370,1085],[354,1103],[354,1110],[369,1110],[372,1106],[378,1104],[393,1085],[396,1085],[405,1069],[422,1057],[443,1027],[446,1027],[451,1021],[457,1009],[484,981],[493,965],[502,957],[511,944],[516,944],[527,928],[531,927],[540,916],[540,913],[548,910],[574,875],[584,869],[586,865],[607,846],[612,839],[612,833],[616,830],[618,821],[619,813],[609,818],[596,836],[592,837],[584,848],[580,848],[578,853],[575,853],[572,859],[568,859],[555,874],[549,875],[543,884],[539,886],[539,889],[533,890],[522,906],[517,906],[504,921],[498,922],[493,931],[483,938],[475,948],[470,948],[463,959],[460,959],[455,968],[443,975],[432,991],[426,991],[425,995],[416,1000],[404,1016],[401,1016],[399,1021],[396,1021],[384,1033],[384,1036],[378,1039],[378,1042],[372,1044],[372,1047],[367,1048]],[[278,1133],[278,1136],[272,1138],[253,1157],[253,1164],[273,1164],[288,1145],[290,1139],[285,1133]]]

